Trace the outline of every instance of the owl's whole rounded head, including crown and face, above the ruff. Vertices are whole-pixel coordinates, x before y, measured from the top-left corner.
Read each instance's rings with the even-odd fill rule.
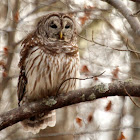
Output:
[[[63,13],[44,16],[38,23],[37,33],[48,41],[74,41],[76,27],[73,19]]]

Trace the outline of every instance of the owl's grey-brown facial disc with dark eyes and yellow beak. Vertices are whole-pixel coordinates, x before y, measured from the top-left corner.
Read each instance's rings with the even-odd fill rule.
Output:
[[[73,21],[68,17],[52,16],[46,20],[46,34],[50,41],[70,42],[74,25]]]

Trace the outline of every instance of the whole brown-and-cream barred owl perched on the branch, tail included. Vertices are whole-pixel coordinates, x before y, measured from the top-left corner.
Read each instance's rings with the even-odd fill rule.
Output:
[[[22,43],[18,81],[19,104],[56,96],[75,90],[79,77],[79,52],[73,19],[63,13],[52,13],[41,18],[34,32]],[[38,133],[56,123],[56,112],[38,114],[21,122],[24,128]]]

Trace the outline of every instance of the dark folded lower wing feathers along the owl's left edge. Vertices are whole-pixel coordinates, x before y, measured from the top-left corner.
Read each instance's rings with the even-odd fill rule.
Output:
[[[21,68],[19,80],[18,80],[18,91],[17,91],[19,106],[23,96],[25,95],[26,84],[27,84],[27,78],[25,76],[25,70],[24,68]]]

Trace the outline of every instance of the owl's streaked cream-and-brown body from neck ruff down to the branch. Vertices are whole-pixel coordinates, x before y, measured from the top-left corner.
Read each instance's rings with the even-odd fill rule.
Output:
[[[32,35],[28,36],[22,45],[19,62],[19,102],[25,93],[31,100],[56,95],[61,82],[79,77],[79,53],[76,45],[66,42],[44,44]],[[77,83],[74,79],[65,82],[60,92],[76,89]]]

